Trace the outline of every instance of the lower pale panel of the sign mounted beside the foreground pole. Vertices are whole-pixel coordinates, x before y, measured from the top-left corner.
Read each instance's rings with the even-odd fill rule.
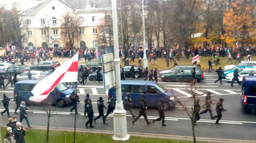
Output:
[[[116,86],[115,79],[115,71],[112,70],[110,72],[103,74],[103,82],[104,82],[104,90],[108,90],[114,86]]]

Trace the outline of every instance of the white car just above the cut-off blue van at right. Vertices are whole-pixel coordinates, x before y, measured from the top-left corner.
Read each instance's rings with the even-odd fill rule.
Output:
[[[254,75],[256,75],[256,69],[255,68],[247,68],[247,69],[241,69],[238,71],[238,80],[241,82],[243,80],[243,77],[246,76],[246,75],[249,75],[251,71],[254,71]],[[228,73],[226,75],[226,81],[232,81],[232,79],[234,78],[234,72],[233,73]]]

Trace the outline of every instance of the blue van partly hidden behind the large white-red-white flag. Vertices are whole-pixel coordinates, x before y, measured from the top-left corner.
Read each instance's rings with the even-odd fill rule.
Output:
[[[16,82],[14,85],[14,96],[17,94],[17,91],[19,91],[22,101],[29,102],[29,97],[33,96],[31,90],[37,83],[39,83],[38,80],[22,80]],[[64,107],[67,103],[70,103],[69,96],[72,92],[75,92],[75,90],[67,87],[67,85],[63,83],[58,83],[55,89],[49,93],[50,95],[48,97],[53,99],[53,104],[57,104],[59,107]],[[58,93],[58,97],[56,97],[56,93]]]

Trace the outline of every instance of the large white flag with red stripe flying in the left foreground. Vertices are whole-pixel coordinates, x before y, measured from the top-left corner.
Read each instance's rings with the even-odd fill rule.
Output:
[[[29,100],[41,102],[47,98],[49,93],[53,91],[58,83],[76,82],[78,77],[78,53],[71,59],[67,60],[53,73],[41,80],[32,89],[34,96],[29,97]]]

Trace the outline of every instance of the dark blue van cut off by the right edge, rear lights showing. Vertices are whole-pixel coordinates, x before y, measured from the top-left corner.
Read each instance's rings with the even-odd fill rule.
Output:
[[[244,76],[242,80],[241,107],[256,113],[256,76]]]

